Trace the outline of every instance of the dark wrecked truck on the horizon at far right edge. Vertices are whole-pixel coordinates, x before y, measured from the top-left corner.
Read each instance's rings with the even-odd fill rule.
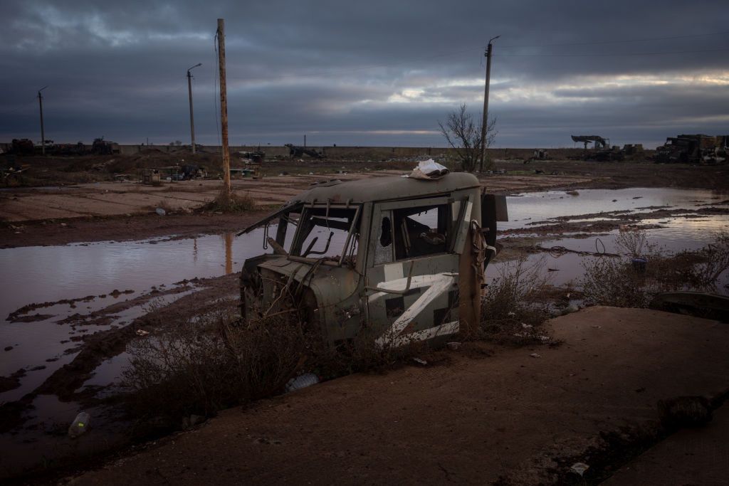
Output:
[[[655,149],[656,163],[717,164],[726,162],[729,136],[679,135]]]

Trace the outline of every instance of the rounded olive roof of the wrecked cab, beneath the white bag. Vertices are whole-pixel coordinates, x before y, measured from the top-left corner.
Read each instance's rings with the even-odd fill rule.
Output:
[[[327,181],[292,197],[286,205],[295,203],[370,203],[373,201],[407,199],[426,195],[443,194],[459,189],[479,187],[471,173],[448,173],[440,179],[414,179],[400,176],[374,176],[357,181]]]

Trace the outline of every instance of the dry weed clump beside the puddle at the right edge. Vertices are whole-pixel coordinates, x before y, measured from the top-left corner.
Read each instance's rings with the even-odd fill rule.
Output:
[[[729,233],[695,251],[671,254],[650,243],[644,230],[620,232],[623,255],[584,263],[580,281],[585,302],[615,307],[648,307],[655,294],[667,291],[717,291],[720,275],[729,269]],[[644,259],[645,263],[635,259]]]

